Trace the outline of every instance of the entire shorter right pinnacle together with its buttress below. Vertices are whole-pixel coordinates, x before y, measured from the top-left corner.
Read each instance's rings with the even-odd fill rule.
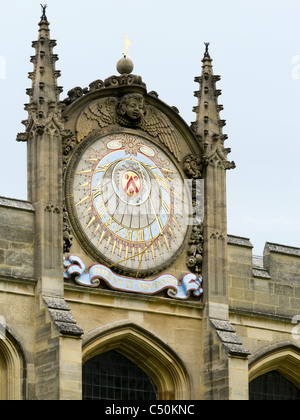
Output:
[[[233,168],[233,162],[227,160],[230,149],[224,148],[227,138],[223,134],[225,121],[220,118],[222,105],[218,104],[221,91],[216,88],[220,76],[215,76],[212,58],[205,44],[202,59],[202,74],[196,77],[200,89],[195,93],[198,106],[195,107],[196,121],[192,129],[202,149],[201,164],[204,180],[204,218],[203,218],[203,343],[214,343],[218,351],[212,352],[211,346],[203,346],[204,362],[203,389],[207,398],[212,400],[229,398],[234,386],[224,379],[216,387],[218,377],[230,378],[235,373],[233,366],[240,371],[247,371],[247,354],[240,351],[228,357],[229,351],[225,334],[235,334],[229,322],[229,285],[227,255],[227,204],[226,204],[226,169]],[[220,331],[222,332],[220,334]],[[235,340],[238,340],[235,337]],[[237,342],[237,341],[235,341]],[[235,360],[233,361],[233,358]],[[228,362],[228,359],[232,360]]]

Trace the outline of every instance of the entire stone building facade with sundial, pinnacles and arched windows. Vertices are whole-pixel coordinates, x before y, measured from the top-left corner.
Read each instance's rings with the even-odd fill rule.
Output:
[[[28,201],[0,198],[0,399],[299,399],[300,249],[227,233],[208,46],[189,127],[126,56],[61,101],[55,45],[44,10]]]

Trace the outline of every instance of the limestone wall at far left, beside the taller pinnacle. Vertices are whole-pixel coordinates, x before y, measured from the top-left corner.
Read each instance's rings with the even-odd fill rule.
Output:
[[[20,359],[22,376],[24,373],[19,383],[10,385],[10,388],[15,388],[15,392],[10,395],[8,390],[7,398],[31,399],[35,396],[33,277],[33,207],[26,201],[1,197],[0,321],[5,334],[10,333],[17,340],[15,357]],[[4,347],[7,345],[6,339],[4,337],[2,342]]]

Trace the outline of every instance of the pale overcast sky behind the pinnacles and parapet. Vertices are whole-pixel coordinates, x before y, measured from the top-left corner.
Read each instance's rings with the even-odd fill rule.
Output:
[[[46,3],[46,0],[45,0]],[[204,42],[221,76],[221,118],[236,169],[227,172],[228,233],[300,247],[299,0],[48,0],[61,99],[116,74],[124,33],[135,74],[188,124]],[[0,196],[27,199],[24,131],[31,41],[40,1],[0,0]]]

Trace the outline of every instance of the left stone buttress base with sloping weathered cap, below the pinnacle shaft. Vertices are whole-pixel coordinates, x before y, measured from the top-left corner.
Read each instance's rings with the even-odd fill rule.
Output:
[[[64,299],[36,298],[35,364],[38,400],[80,400],[82,330]]]

